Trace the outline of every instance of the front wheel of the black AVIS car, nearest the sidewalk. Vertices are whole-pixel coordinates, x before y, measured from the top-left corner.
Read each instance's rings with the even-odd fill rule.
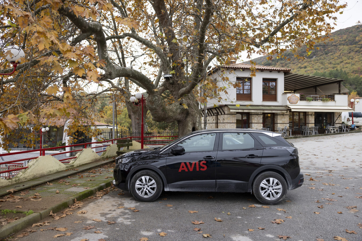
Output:
[[[160,197],[163,191],[163,181],[156,172],[142,170],[132,177],[130,191],[138,201],[152,202]]]

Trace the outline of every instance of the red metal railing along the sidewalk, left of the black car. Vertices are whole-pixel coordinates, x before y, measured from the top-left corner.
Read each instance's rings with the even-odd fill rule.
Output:
[[[177,137],[177,135],[172,135],[172,136],[147,136],[145,138],[164,138],[164,137]],[[88,142],[88,143],[80,143],[80,144],[75,144],[75,145],[68,145],[68,146],[58,146],[58,147],[48,147],[48,148],[42,148],[42,149],[36,149],[36,150],[28,150],[28,151],[17,151],[17,152],[11,152],[11,153],[3,153],[3,154],[0,154],[0,157],[2,156],[10,156],[10,155],[17,155],[17,154],[25,154],[25,153],[30,153],[30,152],[38,152],[40,153],[39,156],[42,156],[42,155],[45,155],[45,151],[48,151],[48,150],[55,150],[55,149],[63,149],[63,148],[66,148],[66,147],[74,147],[74,146],[84,146],[83,149],[86,149],[88,145],[92,145],[92,144],[97,144],[97,143],[105,143],[105,142],[111,142],[112,144],[114,143],[114,141],[117,141],[117,140],[120,140],[120,139],[138,139],[140,137],[122,137],[122,138],[116,138],[116,139],[110,139],[110,140],[106,140],[106,141],[98,141],[98,142]],[[140,140],[137,140],[137,141],[140,141]],[[163,142],[170,142],[170,141],[173,141],[172,139],[164,139],[164,140],[144,140],[144,142],[160,142],[160,141],[163,141]],[[164,144],[164,143],[162,143]],[[158,144],[145,144],[145,145],[148,145],[148,146],[151,146],[151,145],[162,145],[160,143]],[[94,148],[99,148],[99,147],[106,147],[106,146],[109,146],[110,144],[106,144],[106,145],[102,145],[102,146],[96,146],[96,147],[90,147],[92,149]],[[79,150],[71,150],[71,151],[62,151],[62,152],[59,152],[59,153],[54,153],[54,154],[50,154],[50,156],[56,156],[56,155],[61,155],[61,154],[67,154],[67,153],[70,153],[70,152],[77,152],[77,151],[81,151],[83,149],[79,149]],[[96,153],[99,153],[99,152],[104,152],[105,150],[101,150],[101,151],[96,151]],[[33,160],[33,159],[36,159],[38,158],[39,156],[35,156],[35,157],[31,157],[31,158],[23,158],[23,159],[17,159],[17,160],[12,160],[12,161],[7,161],[7,162],[0,162],[0,178],[1,177],[8,177],[8,178],[12,178],[14,176],[16,176],[22,169],[26,169],[28,167],[25,167],[23,163],[19,163],[19,162],[24,162],[24,161],[29,161],[29,160]],[[70,158],[64,158],[64,159],[60,159],[59,162],[62,162],[62,163],[70,163],[70,159],[74,159],[76,158],[75,156],[72,156]],[[3,175],[3,173],[5,175]]]

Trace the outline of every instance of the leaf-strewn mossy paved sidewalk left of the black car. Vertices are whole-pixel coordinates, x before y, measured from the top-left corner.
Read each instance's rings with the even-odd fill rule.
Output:
[[[0,212],[0,238],[31,227],[49,216],[50,212],[67,208],[76,200],[101,198],[108,192],[107,187],[113,180],[113,160],[109,158],[0,188],[0,210],[7,210]]]

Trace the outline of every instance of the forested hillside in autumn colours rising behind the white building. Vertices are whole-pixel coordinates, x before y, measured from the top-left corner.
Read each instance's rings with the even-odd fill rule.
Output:
[[[319,43],[319,50],[313,50],[307,56],[306,47],[298,50],[300,56],[306,57],[298,60],[294,53],[287,51],[286,59],[267,60],[266,56],[254,59],[259,65],[291,68],[293,73],[312,74],[325,77],[345,79],[346,87],[357,90],[362,95],[362,25],[355,25],[341,29],[331,34],[326,43]],[[336,46],[344,44],[344,46]],[[361,44],[361,45],[346,45]],[[332,46],[331,46],[332,45]],[[332,70],[332,71],[331,71]],[[334,70],[334,71],[333,71]]]

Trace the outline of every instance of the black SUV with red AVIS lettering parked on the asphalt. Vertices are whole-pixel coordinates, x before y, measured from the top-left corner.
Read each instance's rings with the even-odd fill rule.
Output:
[[[116,159],[113,184],[139,201],[165,191],[252,192],[277,204],[287,190],[302,186],[298,149],[281,134],[254,129],[191,132],[155,149]]]

